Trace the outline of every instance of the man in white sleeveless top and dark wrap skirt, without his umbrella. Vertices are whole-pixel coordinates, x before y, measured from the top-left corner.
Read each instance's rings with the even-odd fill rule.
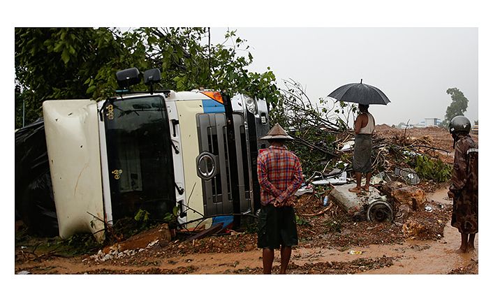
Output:
[[[375,130],[375,119],[368,112],[369,105],[358,105],[360,114],[354,122],[354,152],[353,152],[353,170],[356,177],[356,186],[349,189],[351,192],[360,193],[361,189],[369,191],[369,182],[371,179],[371,135]],[[361,187],[361,177],[365,174],[367,182]]]

